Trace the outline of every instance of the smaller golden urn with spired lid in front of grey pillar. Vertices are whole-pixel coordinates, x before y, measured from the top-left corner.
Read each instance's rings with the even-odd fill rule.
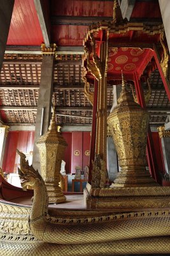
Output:
[[[63,195],[59,182],[61,161],[64,159],[67,143],[60,132],[57,131],[54,106],[48,131],[39,138],[36,145],[39,148],[41,176],[46,184],[49,203],[66,201],[66,196]]]

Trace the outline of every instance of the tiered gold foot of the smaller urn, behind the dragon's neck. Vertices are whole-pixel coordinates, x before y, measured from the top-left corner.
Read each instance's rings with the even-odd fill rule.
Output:
[[[48,193],[48,203],[56,204],[66,201],[66,196],[61,191],[61,188],[56,184],[46,184],[46,190]]]

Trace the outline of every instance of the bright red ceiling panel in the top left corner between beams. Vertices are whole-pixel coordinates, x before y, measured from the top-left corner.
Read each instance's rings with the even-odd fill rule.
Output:
[[[41,45],[42,42],[34,0],[15,0],[7,44]]]

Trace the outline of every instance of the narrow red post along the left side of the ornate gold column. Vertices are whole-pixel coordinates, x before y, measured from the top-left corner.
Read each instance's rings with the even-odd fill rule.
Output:
[[[95,146],[96,146],[96,113],[97,113],[97,91],[98,91],[98,81],[94,80],[94,104],[93,104],[93,117],[92,117],[92,132],[91,132],[91,142],[90,142],[90,163],[89,163],[89,178],[88,182],[91,183],[92,180],[92,161],[95,157]]]

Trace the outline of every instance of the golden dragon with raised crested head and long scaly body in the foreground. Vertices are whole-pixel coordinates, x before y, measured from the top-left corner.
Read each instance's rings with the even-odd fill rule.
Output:
[[[52,215],[48,212],[48,196],[41,175],[29,166],[22,152],[18,154],[22,187],[29,185],[34,189],[34,200],[31,210],[0,202],[0,252],[4,253],[1,255],[99,256],[170,251],[170,210],[120,213],[55,210]],[[17,218],[20,218],[18,224]],[[15,225],[10,224],[12,221]]]

